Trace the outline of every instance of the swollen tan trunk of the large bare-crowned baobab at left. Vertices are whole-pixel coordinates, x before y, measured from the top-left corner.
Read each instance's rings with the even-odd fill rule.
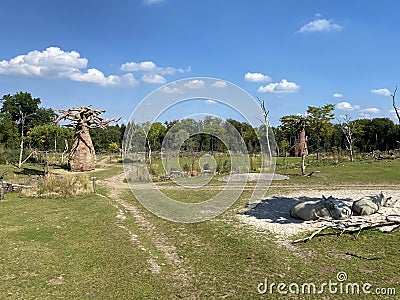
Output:
[[[68,165],[72,172],[85,172],[95,169],[96,153],[89,134],[89,128],[84,127],[75,133]]]

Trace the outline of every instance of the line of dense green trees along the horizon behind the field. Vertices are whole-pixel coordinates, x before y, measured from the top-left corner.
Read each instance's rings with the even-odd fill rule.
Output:
[[[74,136],[71,128],[54,125],[57,116],[51,108],[41,107],[40,98],[33,98],[28,92],[4,95],[0,108],[0,163],[21,161],[22,156],[35,151],[68,151]],[[394,98],[393,98],[394,101]],[[305,116],[289,115],[280,119],[281,124],[271,127],[274,133],[275,155],[296,155],[296,145],[300,136],[299,120],[304,122],[304,136],[307,152],[318,155],[332,151],[372,152],[400,148],[400,128],[389,118],[356,119],[349,116],[335,117],[334,105],[309,106]],[[400,121],[400,120],[399,120]],[[190,152],[226,152],[234,145],[234,128],[243,138],[247,152],[259,153],[259,137],[265,138],[265,124],[252,127],[247,122],[234,119],[223,121],[219,118],[205,117],[202,120],[184,119],[164,123],[122,124],[106,129],[91,129],[90,134],[96,152],[115,152],[122,147],[126,130],[138,138],[145,134],[146,151],[161,151],[168,133],[182,134],[182,128],[198,132],[183,136],[181,150]],[[350,137],[350,141],[349,141]],[[275,141],[275,142],[274,142]],[[262,144],[262,143],[261,143]],[[234,146],[232,146],[234,145]],[[21,151],[23,149],[23,153]],[[235,148],[233,148],[235,149]]]

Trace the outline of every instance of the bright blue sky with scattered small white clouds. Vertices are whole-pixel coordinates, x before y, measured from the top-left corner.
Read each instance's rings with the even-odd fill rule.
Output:
[[[212,77],[264,100],[275,126],[327,103],[338,117],[396,120],[397,0],[5,0],[0,11],[1,95],[27,91],[45,107],[93,105],[126,121],[155,89]],[[203,112],[181,109],[179,118]]]

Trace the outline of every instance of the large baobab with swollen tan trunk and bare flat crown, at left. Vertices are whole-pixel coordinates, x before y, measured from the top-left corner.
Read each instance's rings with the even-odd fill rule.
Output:
[[[90,137],[90,128],[105,129],[111,122],[118,122],[120,119],[103,120],[99,117],[105,110],[93,109],[88,106],[74,107],[67,110],[59,110],[60,113],[55,124],[60,121],[69,121],[64,126],[75,129],[74,142],[68,157],[68,166],[71,171],[84,172],[95,169],[96,154],[93,142]]]

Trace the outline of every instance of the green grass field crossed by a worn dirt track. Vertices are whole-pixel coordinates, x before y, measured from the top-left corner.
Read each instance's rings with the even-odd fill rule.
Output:
[[[285,189],[291,184],[394,185],[400,180],[400,160],[309,169],[320,172],[310,178],[298,176],[296,169],[280,172],[291,176],[284,181]],[[121,166],[114,164],[93,174],[103,180],[119,172]],[[279,191],[279,184],[270,193]],[[101,183],[99,191],[115,195]],[[197,202],[216,191],[165,192],[181,201]],[[120,191],[119,197],[135,208],[135,214],[101,195],[32,199],[7,194],[0,202],[0,299],[286,299],[293,296],[280,296],[279,283],[292,283],[292,287],[313,283],[320,288],[329,280],[338,283],[339,272],[347,274],[346,282],[370,283],[373,293],[376,288],[400,293],[399,231],[366,230],[357,239],[327,232],[308,243],[283,246],[267,231],[235,217],[249,196],[244,191],[215,219],[181,224],[154,216],[129,190]],[[260,284],[266,279],[276,286],[272,294],[260,295],[257,288],[263,288]],[[299,296],[354,297],[340,290],[330,293],[327,286],[323,294]],[[362,292],[357,297],[378,299]]]

